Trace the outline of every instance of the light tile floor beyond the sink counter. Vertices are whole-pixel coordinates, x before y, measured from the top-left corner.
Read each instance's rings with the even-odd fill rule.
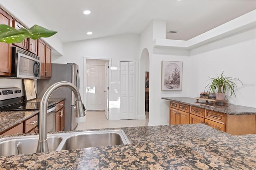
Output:
[[[109,121],[106,119],[104,111],[91,111],[86,112],[86,121],[78,123],[76,130],[140,126],[148,126],[148,112],[146,112],[146,120]]]

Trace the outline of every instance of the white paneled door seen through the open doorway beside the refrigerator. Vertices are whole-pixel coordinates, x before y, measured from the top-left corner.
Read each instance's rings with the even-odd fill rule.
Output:
[[[105,109],[105,66],[87,65],[87,110]]]

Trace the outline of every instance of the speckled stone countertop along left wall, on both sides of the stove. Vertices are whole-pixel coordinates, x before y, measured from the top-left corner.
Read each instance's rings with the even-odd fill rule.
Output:
[[[65,98],[50,98],[49,101],[60,102]],[[32,102],[40,102],[41,99],[32,100]],[[20,124],[22,121],[33,117],[39,111],[0,111],[0,132]]]

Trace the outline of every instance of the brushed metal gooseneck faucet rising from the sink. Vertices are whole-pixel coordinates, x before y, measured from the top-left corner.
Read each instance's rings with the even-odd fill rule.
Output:
[[[47,142],[47,104],[52,93],[59,89],[60,87],[68,87],[71,89],[76,97],[76,117],[84,117],[84,106],[81,100],[81,95],[76,88],[70,82],[60,81],[58,83],[53,84],[49,87],[44,93],[41,102],[40,102],[40,111],[39,111],[39,140],[36,152],[48,152],[48,142]]]

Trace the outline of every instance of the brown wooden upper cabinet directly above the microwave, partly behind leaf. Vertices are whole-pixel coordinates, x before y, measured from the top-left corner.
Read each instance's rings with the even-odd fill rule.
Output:
[[[25,28],[24,26],[22,26],[22,24],[20,24],[16,20],[13,20],[12,27],[14,27],[16,30],[19,30],[20,28]],[[32,53],[37,55],[37,49],[38,49],[37,43],[38,43],[37,40],[33,40],[31,38],[25,38],[23,42],[21,42],[21,43],[13,43],[13,45],[16,45],[18,47],[26,49],[26,50],[28,50],[28,51],[30,51],[30,52],[32,52]]]

